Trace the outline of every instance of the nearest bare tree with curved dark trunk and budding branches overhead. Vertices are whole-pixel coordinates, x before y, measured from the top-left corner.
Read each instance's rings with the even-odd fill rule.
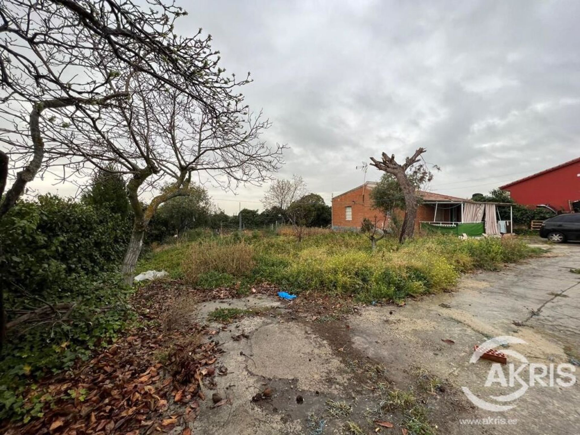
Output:
[[[47,168],[63,167],[52,128],[68,119],[129,97],[121,72],[150,77],[179,90],[212,113],[248,82],[224,77],[211,36],[173,31],[186,14],[173,4],[149,0],[5,0],[0,6],[0,142],[9,149],[15,181],[0,218]],[[106,63],[103,63],[106,60]],[[106,74],[102,74],[102,70]],[[111,91],[111,89],[115,89]],[[82,108],[82,110],[81,110]],[[0,198],[2,199],[2,198]]]

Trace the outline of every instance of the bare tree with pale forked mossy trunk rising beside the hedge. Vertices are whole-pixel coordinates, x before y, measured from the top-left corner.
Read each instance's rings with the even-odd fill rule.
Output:
[[[95,117],[81,108],[83,116],[71,119],[74,128],[59,129],[59,142],[66,144],[68,168],[79,175],[93,168],[113,171],[113,164],[128,178],[135,221],[122,273],[131,284],[144,234],[161,204],[189,195],[196,174],[205,173],[224,189],[263,182],[280,166],[284,146],[260,140],[270,123],[252,114],[241,97],[212,113],[189,95],[139,74],[126,75],[125,89],[131,99],[116,110]],[[154,196],[143,206],[146,192]]]

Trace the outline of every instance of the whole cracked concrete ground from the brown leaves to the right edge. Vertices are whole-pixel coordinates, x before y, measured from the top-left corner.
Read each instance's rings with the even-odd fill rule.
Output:
[[[579,383],[561,386],[555,372],[549,386],[548,372],[523,387],[521,397],[501,401],[493,397],[520,389],[519,381],[504,387],[501,373],[492,372],[498,382],[486,387],[491,362],[470,363],[474,345],[512,336],[525,343],[499,350],[519,352],[537,364],[536,374],[545,366],[580,364],[580,275],[570,271],[580,269],[579,253],[580,244],[553,245],[542,258],[467,275],[455,292],[404,306],[359,307],[342,317],[314,316],[269,296],[207,303],[198,313],[202,320],[216,307],[261,311],[226,329],[215,325],[220,332],[212,338],[224,350],[216,368],[227,368],[227,374],[216,376],[215,389],[206,389],[192,432],[371,434],[379,428],[401,434],[407,427],[409,434],[427,435],[431,432],[420,432],[426,427],[415,425],[421,419],[416,411],[424,409],[432,433],[580,433]],[[508,355],[517,363],[514,369],[518,358]],[[530,365],[519,372],[526,385],[529,372]],[[507,378],[509,366],[502,373]],[[486,411],[468,400],[462,387],[487,403],[515,406]],[[413,394],[414,404],[396,400],[401,392]],[[214,407],[213,393],[226,403]],[[346,408],[335,406],[342,402]]]

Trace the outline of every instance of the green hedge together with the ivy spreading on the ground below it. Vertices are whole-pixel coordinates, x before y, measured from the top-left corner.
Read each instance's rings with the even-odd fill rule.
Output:
[[[131,233],[128,216],[45,195],[0,220],[0,286],[8,321],[49,303],[70,309],[8,330],[0,359],[0,420],[30,418],[24,387],[110,343],[128,319],[128,289],[114,273]],[[26,416],[26,417],[25,417]]]

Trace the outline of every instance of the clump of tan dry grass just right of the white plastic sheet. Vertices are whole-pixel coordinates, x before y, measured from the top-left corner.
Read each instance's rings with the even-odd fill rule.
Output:
[[[255,266],[253,254],[253,247],[245,242],[221,244],[205,241],[193,244],[182,263],[183,276],[190,284],[195,284],[201,274],[209,271],[244,276]]]

